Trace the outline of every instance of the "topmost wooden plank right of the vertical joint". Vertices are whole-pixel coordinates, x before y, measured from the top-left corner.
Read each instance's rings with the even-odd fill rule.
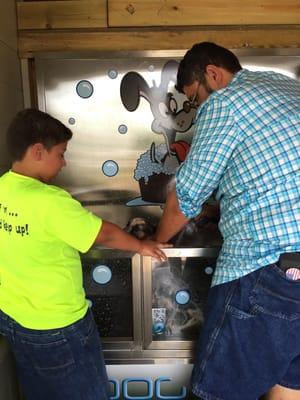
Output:
[[[110,0],[108,25],[299,24],[299,0]]]

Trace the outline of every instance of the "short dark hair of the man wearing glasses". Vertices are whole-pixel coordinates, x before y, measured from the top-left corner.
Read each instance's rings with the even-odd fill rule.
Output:
[[[208,65],[216,65],[232,73],[242,69],[237,57],[225,47],[210,42],[197,43],[188,50],[179,64],[175,86],[178,92],[183,93],[183,87],[196,80],[205,82],[204,74]]]

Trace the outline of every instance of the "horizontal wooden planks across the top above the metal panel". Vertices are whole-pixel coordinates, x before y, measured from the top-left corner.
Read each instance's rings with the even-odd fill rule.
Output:
[[[17,1],[19,52],[300,47],[300,0]]]

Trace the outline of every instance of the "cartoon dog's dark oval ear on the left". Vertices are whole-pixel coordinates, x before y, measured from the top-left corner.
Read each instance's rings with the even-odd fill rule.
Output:
[[[151,89],[145,79],[137,72],[131,71],[123,76],[120,85],[120,95],[124,107],[135,111],[140,104],[140,97],[149,100]]]

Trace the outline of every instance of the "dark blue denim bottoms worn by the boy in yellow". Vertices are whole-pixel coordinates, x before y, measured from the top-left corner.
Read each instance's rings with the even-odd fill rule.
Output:
[[[61,329],[32,330],[0,310],[0,333],[14,352],[26,400],[106,400],[109,384],[89,310]]]

